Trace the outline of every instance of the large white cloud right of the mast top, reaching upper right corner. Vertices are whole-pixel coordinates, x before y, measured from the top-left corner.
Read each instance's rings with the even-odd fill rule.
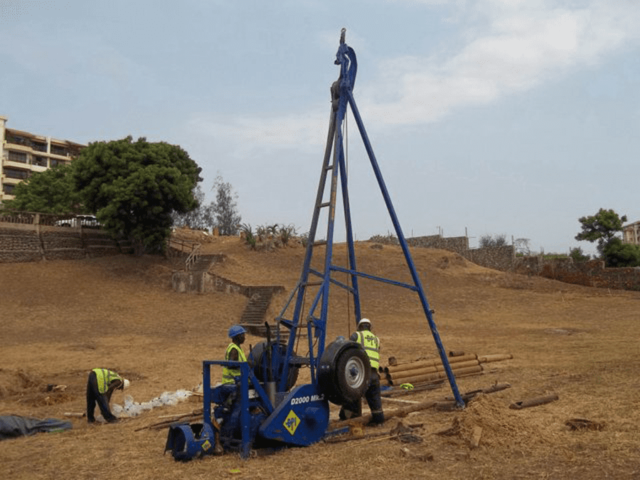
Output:
[[[630,3],[594,2],[577,10],[548,9],[545,2],[531,5],[479,2],[476,8],[489,23],[452,57],[417,58],[413,65],[396,69],[395,78],[393,66],[400,62],[381,63],[384,84],[399,85],[400,95],[379,102],[379,95],[372,93],[375,85],[369,85],[368,111],[380,124],[433,122],[465,105],[491,102],[596,64],[639,36],[640,10]]]

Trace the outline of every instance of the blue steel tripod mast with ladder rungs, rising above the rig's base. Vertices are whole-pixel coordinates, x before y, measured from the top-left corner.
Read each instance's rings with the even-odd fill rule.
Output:
[[[311,366],[311,380],[316,381],[316,368],[317,362],[324,351],[324,341],[326,338],[326,321],[329,311],[329,287],[331,284],[346,289],[353,297],[353,310],[355,314],[356,322],[361,319],[361,304],[360,304],[360,292],[358,289],[358,277],[366,279],[372,279],[378,282],[384,282],[392,284],[398,287],[410,289],[417,293],[420,297],[422,309],[425,312],[427,322],[430,327],[430,331],[434,338],[434,342],[437,346],[437,350],[442,361],[442,365],[447,374],[449,385],[451,386],[452,393],[459,407],[464,407],[464,401],[458,391],[456,379],[449,365],[447,353],[444,350],[442,341],[437,331],[436,324],[433,319],[432,310],[430,309],[427,297],[425,296],[420,277],[415,269],[415,264],[412,260],[405,235],[402,233],[398,217],[395,214],[393,203],[389,196],[388,190],[385,186],[382,173],[378,166],[378,161],[373,154],[373,148],[369,142],[366,129],[362,122],[356,101],[353,98],[353,85],[356,80],[356,71],[358,68],[356,53],[353,48],[349,47],[345,43],[346,29],[341,31],[340,46],[336,53],[336,60],[334,63],[340,65],[340,75],[338,80],[331,85],[331,117],[329,120],[329,133],[326,139],[326,147],[324,151],[324,160],[322,164],[320,181],[318,191],[316,193],[316,202],[314,205],[314,213],[311,218],[311,226],[309,228],[309,236],[306,245],[306,253],[304,256],[304,263],[302,266],[302,273],[297,283],[296,289],[292,292],[289,301],[282,309],[281,314],[277,317],[278,327],[280,325],[290,329],[289,331],[289,343],[287,346],[287,358],[292,358],[294,349],[294,338],[297,335],[297,330],[302,326],[300,316],[302,315],[302,309],[304,305],[305,294],[307,290],[316,288],[314,300],[309,306],[306,314],[306,326],[308,330],[307,338],[309,340],[309,359]],[[351,107],[353,118],[356,120],[358,130],[361,134],[363,144],[365,146],[368,158],[375,174],[375,178],[378,181],[380,193],[382,193],[385,205],[387,207],[390,219],[392,220],[395,233],[398,237],[398,242],[402,247],[402,252],[407,262],[407,267],[410,270],[413,284],[406,284],[403,282],[396,282],[392,279],[386,279],[383,277],[376,277],[374,275],[366,274],[364,272],[358,272],[356,267],[356,252],[353,245],[353,227],[351,223],[351,210],[349,205],[348,196],[348,182],[346,171],[346,159],[343,148],[344,139],[342,134],[342,127],[345,121],[347,112],[347,105]],[[333,154],[332,154],[333,153]],[[326,182],[328,178],[331,178],[331,187],[329,189],[329,200],[324,200],[324,194],[326,193]],[[333,247],[334,247],[334,220],[336,215],[336,197],[338,193],[338,181],[340,182],[340,189],[342,193],[343,203],[343,216],[345,220],[346,228],[346,243],[348,248],[348,268],[339,267],[333,263]],[[327,227],[326,227],[326,239],[316,241],[316,234],[318,229],[319,218],[321,211],[328,209],[327,211]],[[322,262],[322,270],[314,270],[311,267],[311,261],[314,256],[314,249],[316,247],[325,247],[324,262]],[[332,277],[333,272],[341,272],[347,274],[351,281],[351,285],[339,282]],[[316,281],[310,281],[310,277],[313,276]],[[311,292],[311,290],[309,290]],[[292,319],[287,320],[284,318],[284,314],[289,308],[290,302],[296,297],[294,304],[294,312]],[[316,312],[319,309],[319,312]],[[314,343],[314,338],[315,343]],[[281,383],[279,385],[279,391],[284,388],[284,382],[287,379],[287,372],[282,375]]]

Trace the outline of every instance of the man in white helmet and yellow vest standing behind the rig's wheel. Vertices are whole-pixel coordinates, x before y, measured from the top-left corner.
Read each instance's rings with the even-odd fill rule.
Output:
[[[369,319],[361,319],[358,321],[357,331],[351,334],[350,340],[360,343],[369,357],[371,375],[369,386],[365,392],[365,398],[369,405],[369,410],[371,410],[369,425],[382,425],[385,422],[385,414],[382,407],[382,398],[380,398],[380,375],[378,374],[378,367],[380,366],[380,339],[371,332],[371,321]],[[343,405],[340,409],[341,420],[361,416],[361,399]]]

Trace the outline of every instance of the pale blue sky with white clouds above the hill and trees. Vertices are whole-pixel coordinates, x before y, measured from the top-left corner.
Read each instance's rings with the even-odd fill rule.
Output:
[[[594,252],[578,218],[640,220],[637,0],[0,0],[0,115],[82,144],[177,144],[207,201],[219,175],[242,223],[304,233],[341,28],[405,236]],[[394,233],[346,125],[356,240]]]

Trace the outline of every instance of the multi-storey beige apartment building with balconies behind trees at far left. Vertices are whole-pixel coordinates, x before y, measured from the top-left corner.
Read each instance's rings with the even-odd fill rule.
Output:
[[[36,171],[70,164],[85,145],[6,127],[0,116],[0,203],[14,198],[14,188]]]

